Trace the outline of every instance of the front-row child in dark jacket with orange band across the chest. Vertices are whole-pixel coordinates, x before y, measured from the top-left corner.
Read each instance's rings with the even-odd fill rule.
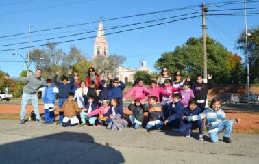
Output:
[[[156,96],[151,96],[149,99],[149,122],[147,122],[147,129],[161,129],[164,125],[163,122],[163,111],[161,104],[158,102]]]

